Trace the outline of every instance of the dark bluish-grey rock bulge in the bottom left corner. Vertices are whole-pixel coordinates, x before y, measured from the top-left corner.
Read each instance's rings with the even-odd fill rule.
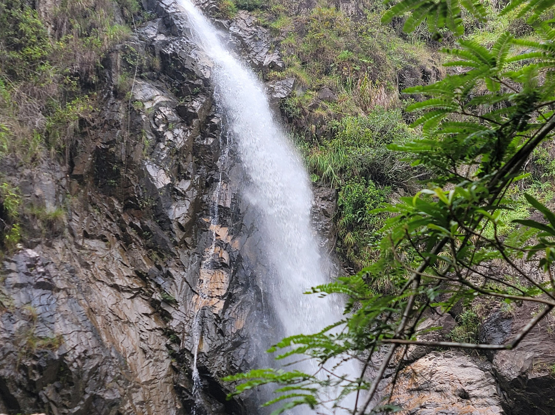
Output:
[[[26,249],[6,267],[2,290],[10,302],[0,316],[0,410],[33,412],[37,396],[44,397],[42,409],[56,413],[79,408],[101,414],[119,406],[130,386],[117,377],[125,364],[103,344],[88,307],[56,265]]]

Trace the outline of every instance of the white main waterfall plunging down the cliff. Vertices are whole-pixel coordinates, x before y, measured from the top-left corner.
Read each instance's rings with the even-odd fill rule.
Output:
[[[264,235],[262,250],[269,269],[263,291],[281,323],[278,336],[319,331],[341,318],[341,307],[327,298],[303,295],[306,289],[329,280],[310,226],[312,197],[307,174],[275,121],[258,78],[224,47],[216,30],[189,0],[178,2],[189,17],[196,43],[214,62],[216,103],[226,116],[248,181],[243,198],[255,210]],[[312,369],[310,363],[301,367]]]

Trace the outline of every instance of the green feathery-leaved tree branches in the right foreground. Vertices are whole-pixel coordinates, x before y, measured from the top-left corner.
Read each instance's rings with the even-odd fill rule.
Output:
[[[544,18],[554,3],[509,2],[501,13],[518,10],[517,17],[534,28],[533,37],[503,32],[487,45],[459,39],[445,50],[447,65],[458,68],[455,73],[406,90],[426,96],[408,107],[418,113],[413,127],[420,127],[423,136],[390,148],[431,171],[426,186],[377,211],[389,216],[375,245],[379,259],[356,275],[312,289],[346,296],[345,318],[312,335],[287,337],[270,349],[281,351],[278,358],[314,359],[317,371],[255,370],[229,377],[243,382],[238,392],[273,383],[279,395],[269,404],[282,405],[275,413],[301,404],[320,412],[328,404],[331,411],[349,405],[352,414],[363,415],[370,412],[386,370],[400,371],[405,365],[397,356],[408,346],[511,350],[552,312],[555,213],[532,194],[519,199],[522,190],[513,188],[523,180],[534,150],[555,138],[555,21]],[[485,18],[477,0],[402,0],[384,20],[408,13],[406,31],[426,20],[436,38],[449,31],[456,37],[463,34],[461,7],[476,19]],[[514,218],[517,226],[501,232],[503,214],[522,205],[532,218]],[[494,264],[506,272],[490,272]],[[384,277],[388,287],[377,293],[372,282]],[[515,279],[522,284],[514,284]],[[418,338],[426,316],[482,298],[529,302],[535,311],[503,345],[479,343],[478,321],[468,310],[459,320],[472,333],[451,337],[457,341]],[[337,363],[351,358],[360,362],[360,371],[342,374]],[[375,377],[366,378],[376,362]],[[347,396],[355,398],[348,401]]]

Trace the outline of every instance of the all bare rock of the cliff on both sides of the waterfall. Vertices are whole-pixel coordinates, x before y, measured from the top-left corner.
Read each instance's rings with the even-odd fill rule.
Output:
[[[200,6],[217,11],[212,1]],[[356,2],[340,6],[356,13]],[[37,7],[48,19],[52,4]],[[171,0],[144,7],[152,19],[104,59],[99,110],[82,122],[69,162],[2,160],[24,204],[64,213],[24,218],[29,237],[3,260],[0,412],[252,413],[254,401],[226,401],[219,380],[264,364],[256,356],[268,339],[251,333],[271,332],[258,236],[238,196],[242,172],[214,104],[211,62],[186,17]],[[249,13],[218,25],[262,77],[285,68]],[[274,104],[293,87],[291,78],[269,82]],[[315,201],[329,251],[335,193],[317,188]],[[456,322],[430,320],[437,325],[441,336]],[[498,310],[481,336],[503,342],[522,325]],[[412,414],[553,414],[554,342],[544,322],[515,351],[412,350],[395,401]]]

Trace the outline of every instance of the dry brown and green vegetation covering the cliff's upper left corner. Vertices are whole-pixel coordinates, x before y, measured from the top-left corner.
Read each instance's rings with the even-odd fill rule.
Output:
[[[135,0],[119,1],[131,23]],[[131,33],[107,0],[62,1],[48,21],[23,0],[0,1],[0,158],[67,161],[79,120],[94,107],[104,55]]]

